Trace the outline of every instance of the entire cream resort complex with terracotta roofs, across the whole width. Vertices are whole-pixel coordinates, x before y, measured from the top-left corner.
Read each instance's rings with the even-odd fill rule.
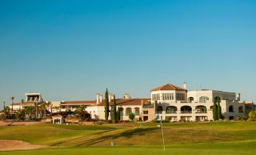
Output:
[[[150,99],[132,99],[128,93],[122,99],[116,99],[120,109],[121,120],[129,120],[129,114],[134,113],[135,120],[170,120],[174,121],[206,121],[213,120],[214,99],[220,99],[223,120],[235,120],[237,117],[254,109],[253,103],[240,101],[239,93],[230,93],[217,90],[187,90],[187,83],[183,87],[165,84],[150,91]],[[109,119],[113,117],[114,95],[109,93]],[[44,100],[40,93],[26,93],[26,101],[14,105],[14,109],[26,106],[40,105]],[[246,108],[245,108],[246,105]],[[62,101],[51,102],[48,111],[76,111],[84,106],[85,111],[91,114],[92,119],[105,119],[105,100],[97,93],[96,100],[92,101]],[[245,111],[246,110],[246,111]]]

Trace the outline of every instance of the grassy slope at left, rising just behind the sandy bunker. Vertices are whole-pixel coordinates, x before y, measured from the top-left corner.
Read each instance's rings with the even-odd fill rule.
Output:
[[[113,126],[78,126],[36,124],[31,126],[0,126],[0,139],[28,141],[32,144],[59,144],[61,141],[85,137],[114,129]]]

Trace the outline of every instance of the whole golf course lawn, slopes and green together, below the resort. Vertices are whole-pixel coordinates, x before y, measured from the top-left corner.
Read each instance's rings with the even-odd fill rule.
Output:
[[[119,126],[54,125],[0,126],[0,139],[28,141],[56,147],[5,154],[252,154],[256,152],[256,122],[164,123],[165,152],[159,123]],[[109,147],[110,141],[116,147]],[[116,153],[119,152],[119,153]],[[0,153],[1,154],[1,153]]]

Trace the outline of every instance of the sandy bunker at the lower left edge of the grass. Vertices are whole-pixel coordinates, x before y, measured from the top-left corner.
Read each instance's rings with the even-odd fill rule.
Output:
[[[46,148],[47,145],[35,145],[25,141],[16,140],[0,140],[0,151],[5,150],[32,150],[39,148]]]

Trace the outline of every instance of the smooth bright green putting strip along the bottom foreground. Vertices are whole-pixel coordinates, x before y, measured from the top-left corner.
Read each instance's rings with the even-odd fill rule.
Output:
[[[167,155],[167,154],[196,154],[196,155],[234,155],[234,154],[254,154],[256,152],[256,141],[237,141],[226,143],[207,143],[207,144],[178,144],[165,148],[161,146],[126,146],[126,147],[72,147],[72,148],[52,148],[43,150],[17,150],[0,152],[5,155],[70,155],[70,154],[109,154],[109,155]]]

